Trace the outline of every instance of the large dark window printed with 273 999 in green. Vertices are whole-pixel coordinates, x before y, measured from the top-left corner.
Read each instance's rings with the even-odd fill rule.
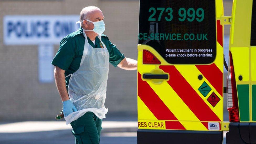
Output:
[[[141,0],[138,39],[169,63],[211,63],[216,57],[215,1]]]

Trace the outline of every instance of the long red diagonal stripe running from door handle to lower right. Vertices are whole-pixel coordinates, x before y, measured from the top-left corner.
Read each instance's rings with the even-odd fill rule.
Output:
[[[167,82],[200,121],[221,121],[174,66],[159,68],[169,73]]]

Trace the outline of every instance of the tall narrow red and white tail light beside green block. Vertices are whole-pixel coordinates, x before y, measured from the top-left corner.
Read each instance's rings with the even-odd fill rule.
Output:
[[[239,109],[236,90],[236,78],[234,72],[233,58],[229,52],[230,70],[227,77],[227,109],[229,111],[229,121],[239,122]]]

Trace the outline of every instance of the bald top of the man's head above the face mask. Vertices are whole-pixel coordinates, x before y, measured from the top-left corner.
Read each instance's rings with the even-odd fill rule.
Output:
[[[83,20],[89,19],[89,20],[95,22],[95,20],[96,20],[94,18],[95,15],[98,15],[98,17],[104,17],[102,14],[102,11],[98,7],[95,7],[95,6],[85,7],[80,12],[79,20],[80,20],[80,22],[83,22]],[[96,16],[96,18],[98,18],[98,17]],[[81,24],[83,25],[83,23],[81,23]]]

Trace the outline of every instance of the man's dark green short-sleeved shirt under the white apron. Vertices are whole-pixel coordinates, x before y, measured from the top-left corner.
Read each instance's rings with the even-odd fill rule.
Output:
[[[88,38],[88,37],[87,37]],[[109,52],[109,62],[114,66],[125,58],[117,47],[112,44],[106,35],[102,34],[102,42],[105,44]],[[65,76],[74,73],[78,70],[83,56],[85,37],[83,29],[80,27],[77,31],[67,35],[60,42],[60,48],[52,60],[51,64],[65,70]],[[93,48],[99,48],[101,44],[98,37],[95,39],[95,44],[88,38],[89,45]],[[66,77],[66,86],[68,86],[70,77]]]

